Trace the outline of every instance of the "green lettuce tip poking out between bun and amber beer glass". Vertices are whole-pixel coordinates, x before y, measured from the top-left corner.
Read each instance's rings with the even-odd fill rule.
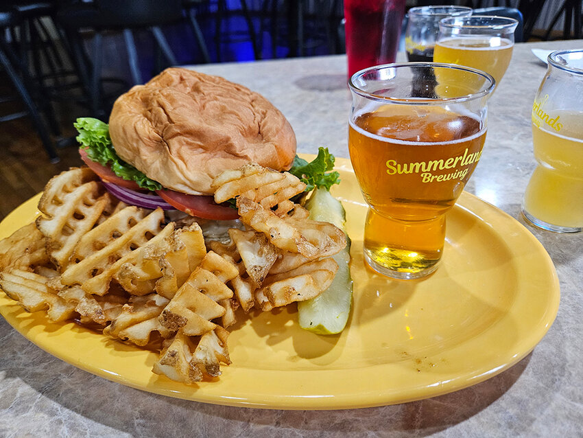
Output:
[[[289,173],[297,176],[305,183],[305,192],[311,192],[316,187],[329,190],[334,184],[340,184],[340,174],[330,172],[334,168],[334,156],[328,148],[318,148],[318,157],[308,163],[296,155]]]

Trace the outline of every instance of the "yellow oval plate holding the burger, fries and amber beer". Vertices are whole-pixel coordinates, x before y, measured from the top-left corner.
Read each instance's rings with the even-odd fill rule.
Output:
[[[233,365],[212,382],[185,385],[152,373],[157,355],[75,323],[49,323],[5,295],[0,312],[30,341],[75,367],[130,387],[199,402],[259,408],[359,408],[468,387],[526,356],[553,323],[554,266],[519,222],[471,194],[447,218],[437,272],[392,281],[365,268],[366,205],[350,161],[337,159],[333,189],[352,238],[354,305],[340,335],[301,330],[296,306],[246,316],[228,345]],[[0,238],[31,222],[38,196],[0,224]]]

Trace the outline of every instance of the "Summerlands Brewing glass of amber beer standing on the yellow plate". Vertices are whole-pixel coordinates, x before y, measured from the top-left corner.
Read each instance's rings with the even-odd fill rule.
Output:
[[[397,279],[436,270],[445,213],[481,157],[494,83],[476,69],[425,62],[350,79],[348,149],[369,205],[364,257],[372,269]]]

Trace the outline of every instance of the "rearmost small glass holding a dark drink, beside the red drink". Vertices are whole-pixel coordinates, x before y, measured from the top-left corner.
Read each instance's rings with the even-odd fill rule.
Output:
[[[414,62],[433,61],[433,47],[439,33],[439,22],[449,16],[471,16],[466,6],[418,6],[407,12],[405,50],[407,59]]]

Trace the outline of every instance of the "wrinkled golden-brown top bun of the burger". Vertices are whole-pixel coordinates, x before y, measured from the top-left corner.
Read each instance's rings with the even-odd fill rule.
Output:
[[[121,159],[187,194],[212,194],[215,176],[250,161],[287,170],[296,155],[292,126],[265,97],[179,68],[121,95],[109,132]]]

